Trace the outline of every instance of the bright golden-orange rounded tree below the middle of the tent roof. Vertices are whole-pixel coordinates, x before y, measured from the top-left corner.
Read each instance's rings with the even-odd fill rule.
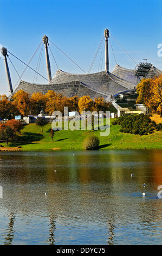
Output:
[[[94,101],[90,99],[90,96],[85,95],[82,96],[78,102],[79,106],[79,112],[81,113],[82,111],[93,111],[94,109]]]

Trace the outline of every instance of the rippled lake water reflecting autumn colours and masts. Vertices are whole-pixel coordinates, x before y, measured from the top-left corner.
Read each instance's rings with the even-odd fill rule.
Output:
[[[158,150],[0,153],[0,244],[160,245],[159,185]]]

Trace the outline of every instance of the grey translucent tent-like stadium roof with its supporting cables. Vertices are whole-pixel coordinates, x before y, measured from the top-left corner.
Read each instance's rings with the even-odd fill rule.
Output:
[[[114,36],[112,36],[111,34],[110,36],[115,42],[117,42],[117,44],[122,48],[122,50],[125,53],[127,53],[126,50],[114,38]],[[47,36],[44,36],[44,37],[47,38]],[[29,66],[31,60],[35,56],[35,53],[31,57],[29,62],[26,64],[25,62],[22,62],[22,60],[14,56],[14,54],[8,51],[13,57],[17,58],[23,64],[25,64],[25,70],[27,68],[30,68],[35,72],[33,82],[27,82],[22,80],[22,75],[24,75],[25,70],[21,75],[18,75],[19,79],[17,82],[19,82],[19,84],[18,84],[18,87],[14,89],[13,94],[20,89],[24,90],[25,92],[28,92],[29,94],[33,94],[36,92],[42,92],[43,94],[46,94],[48,90],[53,90],[56,93],[66,95],[68,97],[71,97],[74,95],[77,95],[79,97],[83,95],[89,95],[90,97],[92,97],[92,99],[94,99],[95,97],[102,96],[107,101],[111,101],[112,96],[114,95],[117,95],[122,92],[123,93],[132,92],[132,90],[134,90],[137,87],[137,84],[140,82],[142,77],[153,78],[155,76],[159,76],[162,74],[162,71],[155,68],[151,63],[141,62],[137,64],[133,60],[133,58],[129,56],[128,53],[127,55],[134,62],[135,68],[127,69],[117,64],[112,41],[109,39],[109,36],[107,38],[102,36],[99,47],[97,48],[92,64],[90,65],[90,68],[87,73],[72,58],[70,58],[66,53],[64,53],[53,41],[49,40],[49,43],[52,44],[55,48],[57,48],[57,50],[59,50],[62,54],[64,54],[64,56],[66,56],[70,61],[72,61],[73,64],[75,64],[77,68],[79,68],[84,74],[71,74],[69,72],[61,70],[60,67],[57,65],[56,58],[53,54],[53,51],[51,50],[49,44],[48,43],[46,44],[46,42],[44,42],[46,53],[48,51],[47,48],[49,47],[50,56],[53,57],[54,63],[57,67],[56,74],[53,76],[53,78],[51,77],[50,80],[42,76],[39,72],[40,63],[42,59],[42,52],[43,52],[43,45],[42,45],[43,42],[41,42],[40,45],[38,45],[35,51],[36,53],[38,51],[38,48],[41,49],[38,62],[36,65],[36,69],[33,69],[31,68],[31,66]],[[111,46],[113,57],[116,63],[112,72],[109,72],[109,69],[99,71],[102,68],[104,63],[104,55],[105,55],[105,64],[109,61],[108,54],[106,52],[106,48],[108,49],[107,44]],[[105,50],[105,54],[104,54],[104,50]],[[100,52],[100,56],[99,56],[99,52]],[[97,56],[99,56],[98,72],[90,73]],[[47,61],[48,70],[50,68],[49,64],[50,63],[48,59]],[[48,82],[46,82],[46,84],[37,83],[38,76],[42,76]]]

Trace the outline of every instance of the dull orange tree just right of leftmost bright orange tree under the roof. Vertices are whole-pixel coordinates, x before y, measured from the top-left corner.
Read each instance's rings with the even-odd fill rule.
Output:
[[[42,109],[46,108],[47,97],[40,93],[34,93],[31,95],[31,113],[38,115]]]

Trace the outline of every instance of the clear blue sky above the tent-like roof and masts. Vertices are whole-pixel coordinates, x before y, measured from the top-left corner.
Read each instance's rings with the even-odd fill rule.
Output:
[[[162,57],[157,56],[158,44],[162,43],[162,1],[161,0],[0,0],[0,44],[28,63],[37,46],[46,34],[83,70],[88,72],[105,28],[120,42],[135,62],[148,59],[162,70]],[[135,68],[135,63],[111,39],[116,62],[125,68]],[[50,43],[50,42],[49,42]],[[82,74],[82,71],[63,56],[51,43],[59,69]],[[41,48],[30,63],[36,69]],[[104,69],[102,47],[93,65],[92,72]],[[50,56],[51,73],[57,70]],[[21,75],[25,66],[9,56]],[[115,60],[109,45],[109,69],[112,71]],[[9,62],[12,86],[18,76]],[[47,77],[44,51],[39,72]],[[28,70],[23,80],[33,82],[34,72]],[[38,83],[46,83],[42,77]],[[3,57],[0,59],[0,94],[9,95]]]

